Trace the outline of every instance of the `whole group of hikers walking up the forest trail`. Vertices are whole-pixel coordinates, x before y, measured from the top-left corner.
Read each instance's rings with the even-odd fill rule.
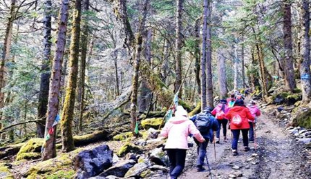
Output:
[[[167,137],[164,149],[169,156],[171,179],[178,178],[185,167],[186,151],[188,148],[188,137],[194,136],[197,144],[198,158],[196,162],[197,171],[205,171],[203,167],[205,158],[207,160],[207,145],[214,140],[216,131],[216,143],[220,144],[220,129],[223,128],[223,141],[227,140],[228,129],[232,131],[232,155],[238,155],[238,138],[242,132],[244,151],[249,151],[249,143],[254,143],[254,127],[256,117],[261,115],[256,101],[250,101],[245,105],[244,96],[239,93],[231,94],[227,99],[213,109],[205,109],[194,116],[188,116],[182,107],[176,107],[175,116],[164,125],[161,135]],[[208,162],[208,161],[207,161]]]

